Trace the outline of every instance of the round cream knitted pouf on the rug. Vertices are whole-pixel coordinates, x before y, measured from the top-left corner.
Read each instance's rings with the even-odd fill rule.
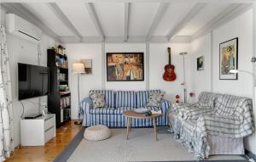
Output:
[[[84,131],[84,138],[90,141],[100,141],[111,136],[108,126],[90,126]]]

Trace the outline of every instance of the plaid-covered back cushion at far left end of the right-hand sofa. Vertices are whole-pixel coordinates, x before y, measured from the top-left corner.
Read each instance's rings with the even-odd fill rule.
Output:
[[[214,102],[218,94],[213,92],[201,92],[198,97],[198,106],[204,109],[214,108]]]

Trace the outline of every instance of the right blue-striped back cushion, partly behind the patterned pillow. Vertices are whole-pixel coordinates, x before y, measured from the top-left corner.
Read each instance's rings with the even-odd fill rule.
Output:
[[[161,92],[161,90],[138,91],[136,92],[137,108],[145,107],[148,103],[149,92]]]

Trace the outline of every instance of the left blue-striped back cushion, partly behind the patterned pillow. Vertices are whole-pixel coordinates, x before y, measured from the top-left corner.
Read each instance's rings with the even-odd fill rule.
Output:
[[[90,90],[90,92],[97,92],[104,94],[107,108],[114,108],[114,91],[111,90]],[[89,92],[89,93],[90,93]]]

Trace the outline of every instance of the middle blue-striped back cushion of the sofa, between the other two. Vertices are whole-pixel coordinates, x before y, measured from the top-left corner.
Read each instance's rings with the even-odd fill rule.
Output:
[[[115,92],[115,106],[136,108],[136,92],[117,91]]]

